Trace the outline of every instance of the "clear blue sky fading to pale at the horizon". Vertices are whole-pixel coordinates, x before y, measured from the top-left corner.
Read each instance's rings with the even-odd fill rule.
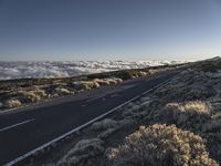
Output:
[[[0,0],[0,61],[221,55],[221,0]]]

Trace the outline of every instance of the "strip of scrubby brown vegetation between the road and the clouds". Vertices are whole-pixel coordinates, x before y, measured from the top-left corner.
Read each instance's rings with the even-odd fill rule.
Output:
[[[122,83],[124,80],[150,75],[150,70],[156,73],[175,69],[180,65],[182,64],[124,70],[74,77],[1,81],[0,101],[7,103],[9,100],[15,98],[20,101],[20,104],[3,104],[3,106],[0,106],[0,110],[6,110],[9,106],[18,107],[21,105],[29,105],[35,102],[74,94],[85,90],[98,89],[101,86],[115,85]]]

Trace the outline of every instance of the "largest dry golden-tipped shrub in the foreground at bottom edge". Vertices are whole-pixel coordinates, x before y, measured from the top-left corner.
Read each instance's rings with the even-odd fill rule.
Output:
[[[125,138],[123,145],[107,151],[110,165],[115,166],[215,166],[209,157],[204,141],[175,125],[155,124],[140,126]]]

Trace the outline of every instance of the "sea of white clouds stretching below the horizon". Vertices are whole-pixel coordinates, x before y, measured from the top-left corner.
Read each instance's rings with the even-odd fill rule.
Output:
[[[125,69],[140,69],[181,61],[41,61],[0,62],[0,80],[66,77]]]

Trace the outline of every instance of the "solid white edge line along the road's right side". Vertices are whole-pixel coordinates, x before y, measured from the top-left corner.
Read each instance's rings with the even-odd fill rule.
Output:
[[[177,75],[177,74],[176,74],[176,75]],[[173,75],[173,76],[175,76],[175,75]],[[173,77],[173,76],[172,76],[172,77]],[[44,149],[45,147],[48,147],[48,146],[50,146],[50,145],[52,145],[52,144],[54,144],[54,143],[56,143],[56,142],[63,139],[63,138],[65,138],[66,136],[73,134],[73,133],[75,133],[75,132],[77,132],[77,131],[80,131],[80,129],[82,129],[82,128],[84,128],[84,127],[91,125],[92,123],[94,123],[94,122],[96,122],[96,121],[103,118],[104,116],[106,116],[106,115],[108,115],[108,114],[115,112],[116,110],[120,108],[122,106],[124,106],[124,105],[126,105],[126,104],[128,104],[128,103],[130,103],[130,102],[133,102],[133,101],[139,98],[140,96],[143,96],[143,95],[149,93],[149,92],[152,91],[154,89],[158,89],[159,86],[161,86],[161,85],[164,85],[164,84],[167,84],[172,77],[167,79],[166,81],[164,81],[164,82],[161,82],[160,84],[158,84],[158,85],[156,85],[156,86],[149,89],[148,91],[146,91],[146,92],[144,92],[144,93],[141,93],[141,94],[139,94],[139,95],[133,97],[131,100],[129,100],[129,101],[127,101],[127,102],[125,102],[125,103],[123,103],[123,104],[120,104],[120,105],[118,105],[118,106],[112,108],[110,111],[108,111],[108,112],[106,112],[106,113],[104,113],[104,114],[102,114],[102,115],[99,115],[99,116],[97,116],[97,117],[95,117],[95,118],[88,121],[87,123],[85,123],[85,124],[83,124],[83,125],[81,125],[81,126],[78,126],[78,127],[76,127],[76,128],[74,128],[74,129],[72,129],[72,131],[70,131],[70,132],[67,132],[67,133],[65,133],[65,134],[63,134],[63,135],[61,135],[61,136],[54,138],[54,139],[52,139],[51,142],[45,143],[45,144],[43,144],[42,146],[36,147],[36,148],[30,151],[29,153],[27,153],[27,154],[24,154],[24,155],[22,155],[22,156],[20,156],[20,157],[18,157],[18,158],[15,158],[15,159],[13,159],[13,160],[7,163],[7,164],[4,164],[3,166],[12,166],[12,165],[17,164],[18,162],[21,162],[22,159],[24,159],[24,158],[27,158],[27,157],[29,157],[29,156],[35,154],[36,152],[40,152],[40,151]]]

